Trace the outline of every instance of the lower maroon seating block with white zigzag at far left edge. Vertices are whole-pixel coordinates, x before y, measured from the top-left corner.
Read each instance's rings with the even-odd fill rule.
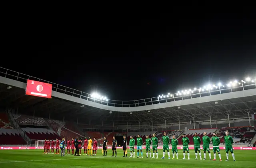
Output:
[[[0,144],[24,145],[26,141],[20,136],[16,129],[0,129]]]

